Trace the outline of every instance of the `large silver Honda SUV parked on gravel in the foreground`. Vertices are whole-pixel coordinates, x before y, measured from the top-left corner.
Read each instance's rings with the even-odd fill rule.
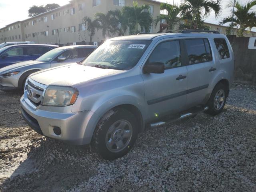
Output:
[[[222,112],[233,71],[230,43],[217,32],[116,37],[81,65],[32,74],[21,113],[36,132],[92,144],[112,160],[126,154],[147,125]]]

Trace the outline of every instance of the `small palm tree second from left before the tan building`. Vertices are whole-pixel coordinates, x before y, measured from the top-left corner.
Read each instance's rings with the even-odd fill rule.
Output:
[[[104,13],[96,13],[95,19],[99,23],[99,28],[102,29],[102,36],[103,39],[106,39],[106,33],[108,37],[110,37],[110,34],[116,33],[116,28],[118,26],[118,20],[113,16],[113,11],[108,11],[106,14]]]

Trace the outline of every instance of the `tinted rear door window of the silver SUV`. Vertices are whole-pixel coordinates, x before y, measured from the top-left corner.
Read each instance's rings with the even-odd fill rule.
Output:
[[[187,39],[185,40],[188,62],[196,64],[212,60],[209,42],[206,39]]]

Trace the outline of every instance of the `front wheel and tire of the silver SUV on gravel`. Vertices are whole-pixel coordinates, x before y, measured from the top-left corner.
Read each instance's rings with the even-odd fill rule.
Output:
[[[135,116],[124,108],[107,112],[96,126],[93,148],[106,160],[127,154],[138,136]]]

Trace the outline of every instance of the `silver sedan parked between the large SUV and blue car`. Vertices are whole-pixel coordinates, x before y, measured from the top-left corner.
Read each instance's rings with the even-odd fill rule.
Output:
[[[83,60],[97,46],[77,45],[59,47],[36,60],[24,61],[0,69],[0,90],[24,89],[26,78],[37,71],[76,63]]]

